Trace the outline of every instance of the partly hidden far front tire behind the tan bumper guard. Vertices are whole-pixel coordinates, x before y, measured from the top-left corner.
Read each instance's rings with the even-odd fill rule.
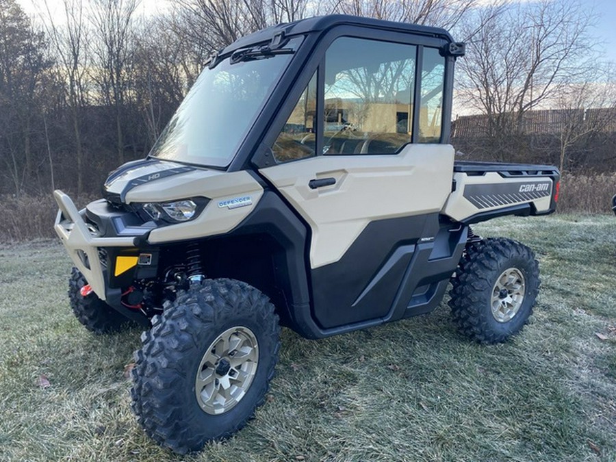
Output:
[[[88,331],[95,334],[114,333],[120,331],[125,324],[131,321],[107,305],[94,292],[82,296],[79,290],[86,285],[86,278],[77,268],[73,268],[68,281],[68,298],[73,313],[86,326]]]

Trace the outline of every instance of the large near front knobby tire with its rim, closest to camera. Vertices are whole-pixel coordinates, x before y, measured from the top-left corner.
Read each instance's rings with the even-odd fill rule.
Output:
[[[278,359],[279,318],[255,287],[206,280],[181,292],[141,339],[133,412],[150,437],[185,454],[240,430],[263,404]]]

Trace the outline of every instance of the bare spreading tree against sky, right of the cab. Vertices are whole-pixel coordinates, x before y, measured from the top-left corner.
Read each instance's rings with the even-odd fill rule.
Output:
[[[464,30],[476,33],[460,61],[459,88],[465,105],[488,116],[488,136],[519,132],[526,112],[593,65],[592,22],[574,0],[515,3],[502,14],[468,17]]]

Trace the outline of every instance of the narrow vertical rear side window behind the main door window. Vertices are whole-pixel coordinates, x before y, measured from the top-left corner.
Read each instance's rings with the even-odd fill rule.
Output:
[[[424,48],[422,62],[422,101],[420,105],[420,143],[437,143],[443,119],[445,60],[435,48]]]

